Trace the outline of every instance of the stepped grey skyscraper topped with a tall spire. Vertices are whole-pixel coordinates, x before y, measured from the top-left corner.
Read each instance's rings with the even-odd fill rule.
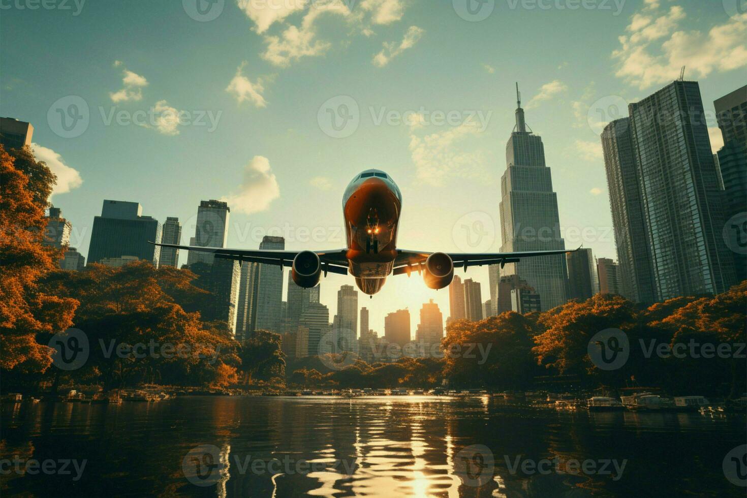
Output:
[[[516,125],[506,143],[506,172],[500,178],[501,252],[565,249],[560,237],[557,194],[545,164],[542,138],[527,131],[517,87]],[[495,268],[492,270],[495,273]],[[500,276],[518,275],[542,296],[545,309],[566,300],[565,256],[525,258],[507,263]],[[494,277],[495,280],[495,277]],[[494,282],[495,284],[495,282]],[[494,290],[491,288],[491,299]],[[500,298],[498,298],[500,299]]]

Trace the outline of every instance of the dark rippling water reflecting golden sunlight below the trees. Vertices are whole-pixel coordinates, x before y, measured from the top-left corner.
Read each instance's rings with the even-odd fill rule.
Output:
[[[739,415],[556,412],[489,396],[1,408],[2,458],[87,461],[77,482],[4,474],[4,495],[743,496],[721,468],[747,438]]]

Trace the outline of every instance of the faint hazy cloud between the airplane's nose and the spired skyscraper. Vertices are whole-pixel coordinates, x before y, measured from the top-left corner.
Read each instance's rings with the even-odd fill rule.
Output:
[[[474,178],[479,175],[483,166],[482,154],[469,152],[459,146],[466,137],[478,133],[479,127],[471,122],[424,137],[411,131],[409,149],[418,179],[426,184],[441,186],[447,178]]]

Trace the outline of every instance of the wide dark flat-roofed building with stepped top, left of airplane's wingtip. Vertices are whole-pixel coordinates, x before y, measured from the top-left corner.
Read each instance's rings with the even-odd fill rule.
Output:
[[[88,263],[134,256],[158,266],[161,248],[152,242],[161,240],[161,223],[142,212],[137,202],[105,200],[101,216],[93,218]]]

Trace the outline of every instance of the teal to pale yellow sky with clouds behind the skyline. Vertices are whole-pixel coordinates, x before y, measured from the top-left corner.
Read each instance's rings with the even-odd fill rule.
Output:
[[[497,252],[518,82],[566,247],[616,258],[604,123],[686,66],[715,152],[713,100],[747,76],[744,0],[2,0],[0,10],[0,115],[34,125],[37,158],[59,178],[52,203],[84,255],[103,199],[179,217],[183,243],[200,200],[223,199],[230,247],[273,234],[286,249],[339,249],[344,187],[371,167],[403,193],[398,246]],[[487,269],[462,271],[489,299]],[[373,299],[359,294],[377,332],[409,308],[414,336],[428,299],[448,316],[447,289],[388,280]],[[322,281],[330,317],[351,283]]]

